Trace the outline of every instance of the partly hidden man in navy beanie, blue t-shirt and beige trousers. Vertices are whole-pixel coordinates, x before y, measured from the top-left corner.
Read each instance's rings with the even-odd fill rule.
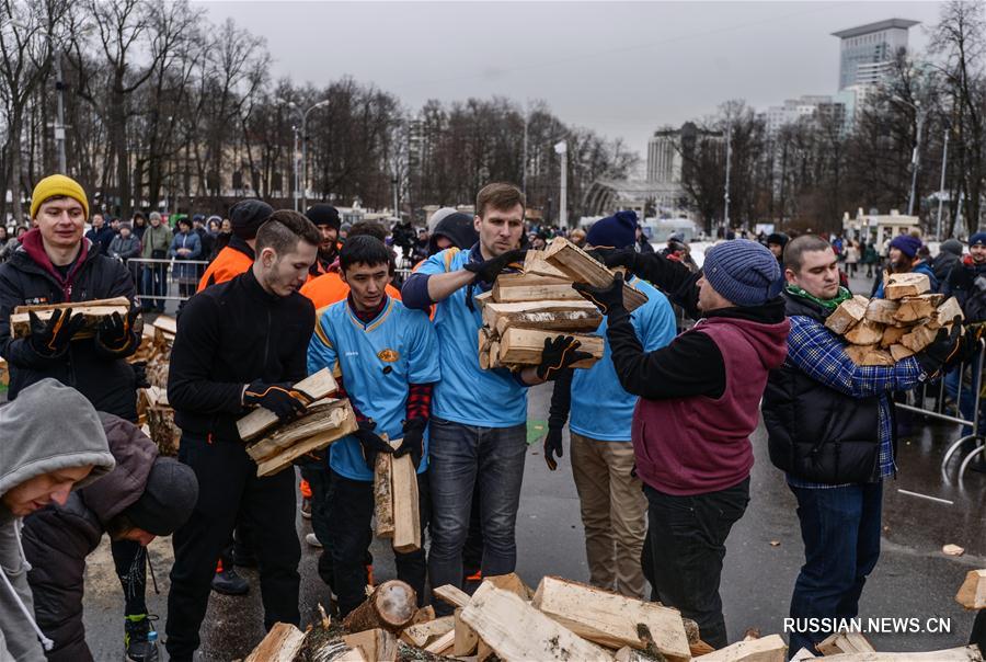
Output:
[[[620,212],[593,224],[588,247],[633,248],[637,214]],[[640,278],[627,281],[647,295],[647,303],[633,311],[631,323],[645,352],[654,352],[674,340],[675,313],[667,297]],[[554,383],[544,461],[554,471],[561,457],[562,429],[569,419],[572,475],[582,524],[589,581],[594,586],[628,597],[645,598],[640,557],[647,533],[647,499],[633,475],[630,426],[637,396],[623,390],[610,357],[606,320],[596,331],[603,336],[603,361],[585,370],[566,370]]]

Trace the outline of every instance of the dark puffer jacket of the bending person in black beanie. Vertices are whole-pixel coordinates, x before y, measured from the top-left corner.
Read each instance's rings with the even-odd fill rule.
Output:
[[[24,555],[32,566],[27,582],[42,631],[54,642],[49,662],[85,662],[92,653],[82,627],[85,557],[99,546],[106,523],[144,493],[158,447],[135,425],[101,413],[116,467],[24,520]]]

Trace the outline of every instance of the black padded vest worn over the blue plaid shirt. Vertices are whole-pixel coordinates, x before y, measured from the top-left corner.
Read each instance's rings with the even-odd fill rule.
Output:
[[[801,297],[787,292],[782,296],[788,317],[809,317],[824,323],[829,315]],[[875,480],[880,472],[879,408],[878,396],[853,398],[841,393],[805,375],[787,358],[770,372],[764,391],[770,461],[812,482]]]

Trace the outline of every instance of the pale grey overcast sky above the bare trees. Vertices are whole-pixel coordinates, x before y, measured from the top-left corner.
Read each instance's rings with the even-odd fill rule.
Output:
[[[272,76],[374,82],[410,109],[428,99],[541,99],[563,122],[622,137],[715,111],[838,87],[832,32],[913,19],[927,44],[937,2],[202,2],[263,35]]]

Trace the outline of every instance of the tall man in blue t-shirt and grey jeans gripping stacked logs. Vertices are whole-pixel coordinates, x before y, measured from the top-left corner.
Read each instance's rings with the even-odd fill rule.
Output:
[[[527,450],[527,388],[553,379],[587,356],[571,336],[546,343],[541,364],[511,372],[479,366],[482,316],[473,293],[488,292],[496,276],[524,256],[524,194],[493,183],[475,199],[479,242],[446,249],[422,262],[401,290],[409,308],[435,306],[442,381],[435,387],[428,470],[432,488],[432,586],[462,585],[462,546],[473,487],[479,484],[484,575],[514,571],[514,528]],[[449,613],[445,604],[436,612]]]

